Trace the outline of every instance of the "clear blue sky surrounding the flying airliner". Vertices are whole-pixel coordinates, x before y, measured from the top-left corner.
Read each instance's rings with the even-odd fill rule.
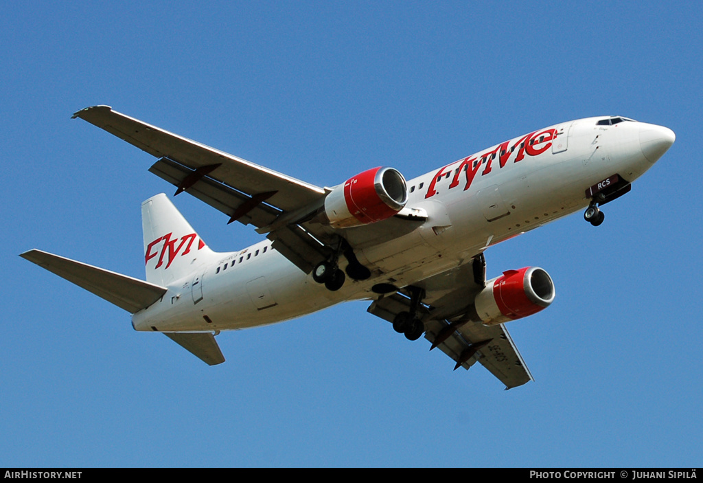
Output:
[[[701,465],[701,4],[200,4],[3,6],[0,466]],[[140,204],[173,188],[70,120],[95,104],[318,186],[593,115],[677,141],[602,226],[486,252],[489,276],[541,266],[557,290],[508,325],[536,381],[505,392],[363,302],[223,333],[208,367],[18,257],[143,278]],[[214,250],[259,240],[175,201]]]

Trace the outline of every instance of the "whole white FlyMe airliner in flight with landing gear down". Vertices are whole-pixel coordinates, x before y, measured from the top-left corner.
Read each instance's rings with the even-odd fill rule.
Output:
[[[671,129],[627,117],[563,122],[504,141],[418,178],[368,169],[321,188],[98,105],[76,112],[157,157],[150,172],[265,235],[235,252],[207,247],[167,195],[142,203],[146,281],[40,250],[22,257],[129,311],[208,364],[215,336],[289,320],[347,300],[409,340],[423,335],[456,366],[481,363],[507,389],[531,380],[503,325],[555,296],[538,267],[486,280],[484,252],[602,205],[671,147]]]

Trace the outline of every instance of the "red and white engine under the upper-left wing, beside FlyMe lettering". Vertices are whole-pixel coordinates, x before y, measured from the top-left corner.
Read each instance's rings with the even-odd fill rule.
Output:
[[[405,178],[396,169],[368,169],[336,186],[325,198],[325,215],[335,228],[360,226],[392,217],[408,202]]]

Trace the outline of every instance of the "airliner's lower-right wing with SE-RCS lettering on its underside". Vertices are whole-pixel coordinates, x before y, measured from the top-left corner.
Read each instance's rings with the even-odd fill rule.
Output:
[[[476,262],[464,264],[415,285],[425,290],[418,317],[425,323],[425,339],[432,342],[432,349],[437,341],[436,347],[456,362],[455,369],[468,370],[478,361],[510,389],[529,382],[532,375],[503,324],[484,326],[470,320],[472,302],[483,288],[480,268]],[[408,307],[410,299],[401,291],[376,300],[368,311],[392,322]]]

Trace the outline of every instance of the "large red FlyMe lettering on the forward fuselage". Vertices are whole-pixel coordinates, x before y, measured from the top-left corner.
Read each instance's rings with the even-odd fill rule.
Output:
[[[534,131],[530,134],[525,134],[524,136],[522,136],[522,138],[515,141],[512,146],[510,146],[510,141],[505,141],[504,143],[498,144],[498,146],[496,146],[493,150],[483,153],[479,157],[469,156],[465,157],[463,160],[458,160],[449,165],[446,165],[439,169],[437,174],[435,174],[432,178],[430,186],[427,188],[427,194],[425,195],[425,198],[430,198],[431,196],[437,194],[437,191],[435,191],[434,189],[434,186],[437,184],[437,181],[439,181],[439,179],[441,179],[441,177],[445,174],[451,172],[452,169],[450,168],[456,165],[457,163],[460,163],[460,165],[456,169],[454,178],[452,179],[451,184],[449,185],[449,189],[459,186],[459,177],[462,173],[466,173],[466,183],[464,185],[464,190],[467,190],[471,186],[471,183],[474,181],[474,178],[479,172],[479,169],[484,166],[484,161],[485,166],[481,173],[481,176],[485,176],[493,170],[492,164],[493,160],[496,159],[496,157],[498,158],[499,167],[505,167],[505,164],[508,162],[508,159],[510,158],[512,153],[515,152],[515,150],[517,150],[517,155],[515,156],[514,162],[522,160],[525,157],[526,153],[528,156],[536,156],[544,153],[552,146],[552,141],[556,138],[556,135],[556,129]],[[510,148],[508,146],[510,146]],[[477,160],[478,162],[476,162]]]

